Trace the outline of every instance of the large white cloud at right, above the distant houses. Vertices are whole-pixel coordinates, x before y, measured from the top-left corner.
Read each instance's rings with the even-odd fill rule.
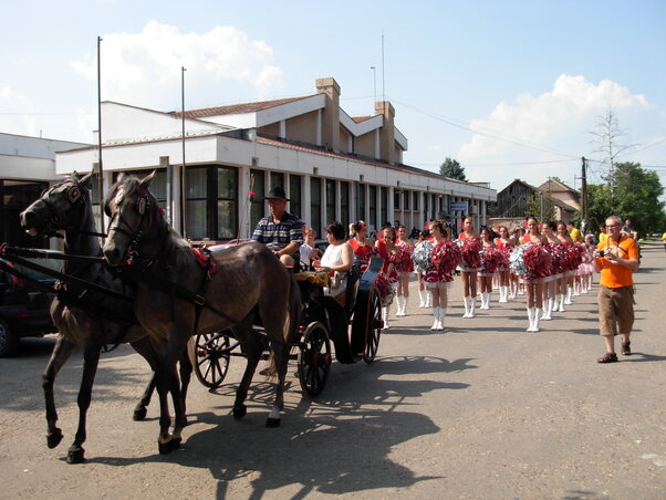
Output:
[[[538,185],[548,176],[572,185],[580,171],[579,158],[593,155],[590,131],[608,106],[618,116],[620,127],[631,132],[627,144],[639,143],[633,139],[647,133],[646,123],[659,119],[659,111],[626,86],[563,74],[552,91],[519,95],[514,104],[500,103],[488,117],[472,121],[470,128],[480,134],[460,147],[457,159],[466,166],[468,178],[488,180],[497,189],[513,178]],[[513,165],[498,167],[507,164]]]

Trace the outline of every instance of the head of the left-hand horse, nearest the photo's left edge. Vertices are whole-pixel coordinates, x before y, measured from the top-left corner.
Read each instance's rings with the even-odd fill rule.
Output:
[[[29,235],[79,228],[90,208],[93,173],[79,178],[74,173],[44,192],[21,212],[21,227]]]

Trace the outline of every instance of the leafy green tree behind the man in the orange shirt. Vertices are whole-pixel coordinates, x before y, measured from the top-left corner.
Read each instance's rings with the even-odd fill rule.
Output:
[[[662,231],[666,223],[664,202],[659,200],[663,192],[655,171],[637,163],[615,164],[608,184],[587,186],[590,229],[596,230],[606,217],[617,215],[623,220],[632,219],[642,235]]]

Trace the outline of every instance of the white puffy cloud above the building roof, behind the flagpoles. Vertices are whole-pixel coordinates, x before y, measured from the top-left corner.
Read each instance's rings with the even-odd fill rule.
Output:
[[[233,27],[183,33],[176,27],[150,21],[141,33],[105,34],[101,53],[103,100],[173,107],[180,102],[181,66],[187,69],[186,100],[214,95],[214,104],[228,102],[225,91],[235,85],[250,87],[246,96],[258,98],[283,90],[282,71],[273,62],[272,49]],[[85,79],[96,80],[96,54],[71,65]]]

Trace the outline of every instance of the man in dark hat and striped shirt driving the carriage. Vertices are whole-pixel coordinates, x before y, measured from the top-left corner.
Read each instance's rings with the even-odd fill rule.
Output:
[[[271,213],[257,223],[252,239],[266,244],[284,265],[293,265],[293,256],[303,242],[301,219],[287,211],[284,188],[272,187],[266,199]]]

